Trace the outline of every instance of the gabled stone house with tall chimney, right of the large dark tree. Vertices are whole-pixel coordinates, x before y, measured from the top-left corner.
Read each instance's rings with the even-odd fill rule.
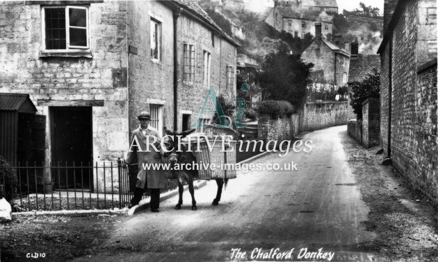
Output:
[[[350,52],[328,42],[321,35],[321,23],[315,23],[315,40],[305,49],[301,58],[313,63],[312,74],[318,76],[314,82],[343,87],[348,82]]]

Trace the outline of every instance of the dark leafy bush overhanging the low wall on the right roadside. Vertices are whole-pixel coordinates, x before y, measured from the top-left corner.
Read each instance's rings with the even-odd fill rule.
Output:
[[[351,88],[350,105],[357,119],[362,119],[362,103],[367,98],[380,98],[380,73],[378,69],[373,68],[362,82],[350,82],[348,85]]]

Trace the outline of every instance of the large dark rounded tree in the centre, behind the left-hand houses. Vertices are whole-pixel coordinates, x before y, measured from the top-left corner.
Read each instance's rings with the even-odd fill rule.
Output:
[[[269,99],[289,101],[299,108],[306,100],[309,72],[313,64],[302,62],[300,55],[282,50],[266,55],[261,64],[261,87]]]

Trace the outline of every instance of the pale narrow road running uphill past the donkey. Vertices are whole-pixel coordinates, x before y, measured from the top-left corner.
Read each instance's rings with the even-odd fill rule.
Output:
[[[232,258],[232,249],[241,248],[246,252],[241,260],[266,261],[272,259],[251,257],[252,251],[277,247],[280,252],[294,248],[289,261],[328,261],[298,257],[305,247],[334,252],[332,261],[377,259],[359,248],[376,236],[364,226],[370,209],[346,161],[341,132],[346,132],[345,125],[310,132],[301,139],[313,141],[311,152],[291,151],[286,157],[271,153],[254,161],[294,161],[298,171],[239,172],[218,207],[211,206],[216,182],[208,182],[195,191],[197,211],[190,210],[185,191],[181,210],[173,209],[175,197],[160,204],[160,213],[139,213],[117,227],[99,248],[103,253],[78,260],[229,261],[238,260]]]

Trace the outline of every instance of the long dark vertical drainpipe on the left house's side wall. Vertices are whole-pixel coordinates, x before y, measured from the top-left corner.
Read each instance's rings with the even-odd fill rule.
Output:
[[[173,10],[173,130],[178,130],[178,17],[182,8]]]

